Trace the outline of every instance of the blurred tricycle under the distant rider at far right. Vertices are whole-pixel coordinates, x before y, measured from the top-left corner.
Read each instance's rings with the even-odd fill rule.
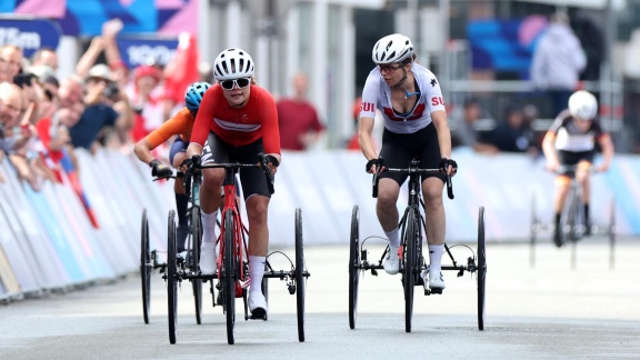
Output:
[[[609,224],[602,226],[600,223],[587,223],[588,219],[584,217],[584,208],[582,206],[582,188],[576,178],[576,171],[578,170],[577,166],[562,166],[558,168],[554,172],[557,174],[567,174],[571,178],[571,186],[569,188],[569,192],[567,193],[567,198],[564,199],[564,206],[562,208],[562,212],[560,216],[560,242],[561,246],[564,243],[572,244],[571,251],[571,267],[576,267],[576,244],[578,241],[582,240],[584,237],[588,236],[598,236],[598,234],[606,234],[609,237],[610,247],[611,247],[611,256],[610,256],[610,263],[613,263],[613,246],[616,242],[616,202],[611,200],[611,207],[609,212]],[[586,169],[589,173],[599,173],[598,169],[594,167],[590,167]],[[550,223],[542,223],[538,218],[538,213],[536,211],[536,197],[533,197],[532,201],[532,210],[531,210],[531,254],[530,254],[530,264],[533,266],[534,263],[534,254],[533,254],[533,247],[536,244],[537,234],[543,231],[554,231],[554,226]]]

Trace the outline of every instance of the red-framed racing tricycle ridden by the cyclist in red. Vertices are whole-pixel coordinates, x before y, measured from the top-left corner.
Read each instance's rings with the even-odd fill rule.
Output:
[[[247,256],[247,238],[249,231],[242,223],[240,217],[239,204],[237,199],[237,174],[240,169],[260,167],[264,171],[266,181],[269,187],[269,192],[273,193],[273,178],[269,171],[267,158],[263,153],[258,156],[259,163],[212,163],[200,164],[198,157],[193,157],[189,161],[189,168],[184,173],[186,181],[193,174],[196,170],[209,168],[222,168],[226,170],[223,191],[224,191],[224,206],[221,216],[221,230],[218,238],[219,256],[218,256],[218,271],[214,276],[202,274],[182,274],[177,271],[180,262],[169,262],[167,282],[169,289],[169,338],[170,342],[176,342],[176,321],[177,321],[177,302],[176,292],[177,283],[184,278],[202,278],[211,280],[211,289],[213,289],[212,280],[218,279],[216,288],[219,291],[219,300],[222,303],[223,312],[227,318],[227,341],[233,344],[234,340],[234,322],[236,322],[236,298],[242,298],[244,307],[244,320],[267,320],[267,316],[253,316],[248,311],[247,287],[249,287],[249,261]],[[191,192],[190,188],[186,188],[187,193]],[[170,219],[171,220],[171,219]],[[302,239],[302,212],[296,209],[296,263],[291,263],[290,270],[273,270],[269,261],[266,261],[266,271],[262,279],[261,288],[264,297],[268,300],[268,279],[277,278],[286,280],[287,288],[291,294],[297,294],[297,317],[298,317],[298,340],[304,341],[304,292],[306,280],[310,276],[306,270],[304,254],[303,254],[303,239]],[[172,221],[169,222],[169,233],[174,234],[172,229]],[[173,226],[174,227],[174,226]],[[172,250],[173,249],[173,250]],[[174,241],[169,242],[169,252],[174,251]],[[273,253],[281,253],[274,251],[267,256],[269,259]],[[169,259],[173,259],[171,256]],[[289,259],[289,258],[287,258]]]

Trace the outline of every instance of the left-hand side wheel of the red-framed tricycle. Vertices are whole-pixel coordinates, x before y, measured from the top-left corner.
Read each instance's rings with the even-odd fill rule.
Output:
[[[176,246],[176,211],[169,211],[169,239],[167,242],[167,294],[169,304],[169,342],[176,343],[176,324],[178,322],[178,264]]]

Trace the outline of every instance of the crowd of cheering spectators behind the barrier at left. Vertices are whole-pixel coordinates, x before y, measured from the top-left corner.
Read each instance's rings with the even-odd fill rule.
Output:
[[[17,46],[0,48],[0,161],[8,159],[36,191],[43,181],[60,181],[64,159],[81,171],[78,149],[130,151],[183,106],[182,96],[164,87],[163,67],[153,59],[127,68],[116,43],[121,29],[120,20],[107,21],[74,73],[61,79],[54,49],[27,59]],[[206,63],[200,70],[203,78],[212,72]],[[168,152],[158,151],[159,158]]]

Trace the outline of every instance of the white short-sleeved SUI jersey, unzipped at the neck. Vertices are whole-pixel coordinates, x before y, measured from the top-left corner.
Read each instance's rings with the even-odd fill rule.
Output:
[[[431,112],[444,110],[442,91],[440,83],[433,72],[413,62],[411,72],[420,97],[416,106],[408,113],[398,113],[391,106],[391,88],[384,82],[380,70],[374,68],[369,73],[364,90],[362,90],[362,107],[360,108],[360,118],[374,118],[376,109],[380,109],[384,119],[384,128],[394,133],[413,133],[424,129],[431,123]]]

